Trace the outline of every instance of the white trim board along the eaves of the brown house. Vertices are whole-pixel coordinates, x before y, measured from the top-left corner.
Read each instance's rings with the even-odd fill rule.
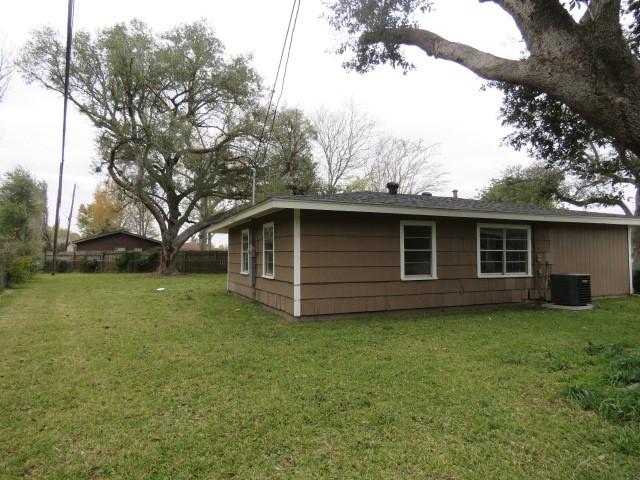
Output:
[[[487,212],[480,210],[459,210],[452,208],[404,207],[396,205],[375,205],[359,203],[339,203],[305,200],[267,200],[259,205],[242,210],[220,223],[209,227],[209,232],[226,232],[230,227],[262,217],[282,209],[324,210],[332,212],[389,213],[393,215],[415,215],[422,217],[482,218],[493,220],[515,220],[520,222],[590,223],[604,225],[631,225],[640,227],[639,217],[607,217],[597,215],[544,215],[531,213]]]

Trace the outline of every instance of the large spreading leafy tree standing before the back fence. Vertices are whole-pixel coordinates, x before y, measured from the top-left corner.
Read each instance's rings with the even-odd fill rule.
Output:
[[[199,218],[205,198],[247,194],[247,140],[260,79],[242,56],[228,57],[198,22],[156,34],[118,24],[73,41],[69,100],[97,128],[98,164],[158,223],[161,273],[175,271],[180,246],[216,221]],[[62,93],[64,45],[44,28],[25,46],[27,81]]]

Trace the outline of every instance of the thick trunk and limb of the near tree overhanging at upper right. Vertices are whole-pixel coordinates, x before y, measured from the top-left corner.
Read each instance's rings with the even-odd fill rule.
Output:
[[[637,1],[479,1],[513,18],[526,46],[524,58],[502,58],[420,28],[420,14],[437,4],[430,0],[334,0],[330,21],[347,33],[340,51],[354,54],[348,65],[358,71],[380,63],[410,67],[400,47],[415,46],[484,79],[544,92],[640,156]]]

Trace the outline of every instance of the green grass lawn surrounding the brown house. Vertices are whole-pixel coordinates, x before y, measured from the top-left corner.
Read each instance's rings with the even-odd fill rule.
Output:
[[[293,322],[225,281],[2,294],[0,476],[640,478],[640,423],[567,397],[588,342],[640,346],[639,298]]]

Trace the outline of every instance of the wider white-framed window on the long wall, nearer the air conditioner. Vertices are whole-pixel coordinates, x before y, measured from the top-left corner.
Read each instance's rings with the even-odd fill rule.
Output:
[[[528,225],[478,225],[478,276],[527,276],[530,265]]]

